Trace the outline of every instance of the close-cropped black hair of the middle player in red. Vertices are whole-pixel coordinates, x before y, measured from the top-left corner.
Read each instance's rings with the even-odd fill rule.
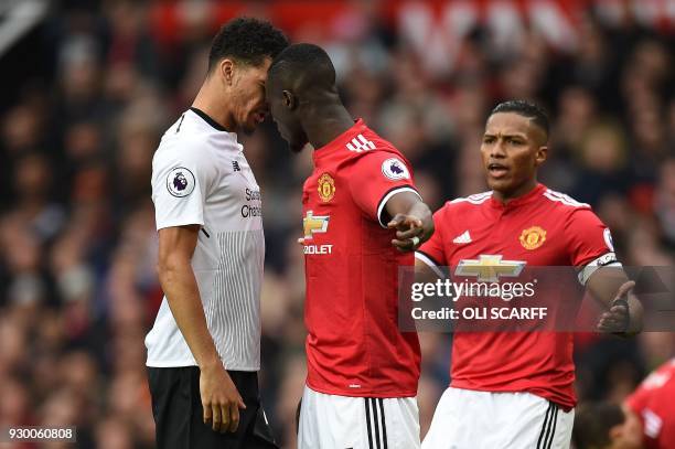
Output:
[[[272,61],[268,76],[292,77],[302,88],[335,84],[335,67],[325,50],[319,45],[298,43],[287,46]]]

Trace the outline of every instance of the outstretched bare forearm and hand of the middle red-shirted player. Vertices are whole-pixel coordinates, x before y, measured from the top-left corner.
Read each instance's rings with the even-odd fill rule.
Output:
[[[385,211],[392,220],[387,227],[396,229],[392,244],[400,252],[411,252],[433,234],[433,217],[429,206],[417,193],[404,191],[392,196]]]

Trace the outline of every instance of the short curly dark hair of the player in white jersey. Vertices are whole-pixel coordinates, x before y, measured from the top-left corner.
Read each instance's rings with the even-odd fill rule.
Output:
[[[266,57],[275,58],[287,46],[286,35],[268,21],[233,19],[213,38],[208,52],[208,71],[225,57],[259,66]]]

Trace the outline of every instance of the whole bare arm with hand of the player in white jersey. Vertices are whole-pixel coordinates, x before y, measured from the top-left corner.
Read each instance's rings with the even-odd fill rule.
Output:
[[[191,259],[200,226],[173,226],[159,231],[159,280],[169,308],[200,366],[200,392],[204,423],[215,431],[235,431],[239,407],[246,408],[229,375],[223,367],[200,299]]]

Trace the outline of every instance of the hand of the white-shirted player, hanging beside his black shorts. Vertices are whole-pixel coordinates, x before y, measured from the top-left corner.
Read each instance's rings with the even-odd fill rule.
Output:
[[[211,424],[221,434],[235,432],[239,426],[239,408],[246,405],[223,365],[201,368],[200,393],[204,424]]]

